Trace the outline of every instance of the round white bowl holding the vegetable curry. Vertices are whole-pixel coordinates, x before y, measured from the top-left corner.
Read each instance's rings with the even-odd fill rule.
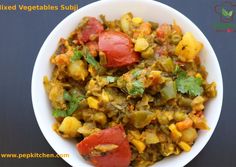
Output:
[[[39,127],[48,143],[58,154],[70,155],[69,158],[63,159],[72,166],[89,167],[91,165],[79,155],[74,141],[65,140],[52,130],[55,119],[52,116],[51,106],[43,86],[43,76],[47,75],[50,77],[53,69],[53,66],[49,63],[50,56],[55,52],[59,39],[61,37],[67,38],[84,16],[98,17],[100,14],[105,14],[108,19],[116,19],[129,11],[135,16],[158,23],[172,23],[175,20],[184,32],[192,32],[204,44],[200,57],[209,73],[207,79],[210,82],[215,81],[217,83],[217,97],[208,102],[205,109],[205,115],[211,129],[209,131],[199,131],[199,137],[190,152],[183,152],[178,156],[165,158],[153,166],[177,167],[186,165],[206,145],[220,117],[223,100],[220,66],[210,43],[193,22],[175,9],[151,0],[98,1],[75,11],[56,26],[39,51],[32,76],[32,101]]]

